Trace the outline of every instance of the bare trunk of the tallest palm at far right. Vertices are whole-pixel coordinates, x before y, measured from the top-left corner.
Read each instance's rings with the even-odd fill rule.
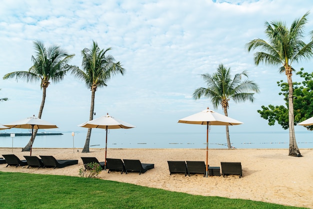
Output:
[[[287,75],[288,92],[288,119],[289,119],[289,156],[302,156],[296,144],[294,134],[294,114],[293,114],[293,85],[291,75]]]

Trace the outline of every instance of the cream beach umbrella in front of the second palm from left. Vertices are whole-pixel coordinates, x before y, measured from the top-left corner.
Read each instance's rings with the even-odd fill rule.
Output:
[[[106,150],[107,150],[107,129],[117,128],[132,128],[135,127],[127,122],[111,117],[108,113],[96,119],[79,124],[80,127],[87,128],[104,128],[105,129],[105,155],[104,155],[104,169],[106,169]]]

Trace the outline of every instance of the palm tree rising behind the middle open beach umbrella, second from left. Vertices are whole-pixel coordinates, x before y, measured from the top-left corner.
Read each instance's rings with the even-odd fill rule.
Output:
[[[92,41],[91,48],[84,48],[81,51],[82,55],[82,69],[76,67],[71,70],[78,79],[85,82],[87,88],[91,90],[91,103],[89,120],[93,119],[94,112],[94,95],[98,87],[106,86],[106,82],[115,74],[124,73],[125,69],[121,64],[115,62],[115,59],[111,55],[107,55],[106,52],[111,48],[100,49],[95,41]],[[88,128],[85,145],[82,152],[89,152],[89,141],[91,135],[91,128]]]

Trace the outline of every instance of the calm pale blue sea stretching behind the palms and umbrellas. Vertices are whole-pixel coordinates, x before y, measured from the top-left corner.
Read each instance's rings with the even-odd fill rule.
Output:
[[[86,132],[64,132],[62,135],[37,135],[33,148],[81,149]],[[313,148],[313,132],[297,131],[299,148]],[[24,147],[30,136],[1,136],[0,147]],[[230,132],[233,148],[288,148],[288,131]],[[91,132],[90,148],[105,147],[105,130]],[[109,130],[107,148],[205,148],[206,132],[126,132]],[[227,148],[225,132],[209,132],[208,148]]]

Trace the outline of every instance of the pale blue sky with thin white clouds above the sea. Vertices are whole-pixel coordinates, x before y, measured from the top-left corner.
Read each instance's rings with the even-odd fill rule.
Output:
[[[1,0],[0,75],[28,70],[34,40],[74,53],[69,64],[78,67],[81,50],[94,40],[100,48],[111,47],[108,54],[126,70],[97,89],[94,118],[108,113],[135,125],[132,131],[148,134],[199,131],[203,127],[177,121],[206,107],[223,114],[209,99],[192,98],[196,88],[206,87],[201,74],[214,73],[222,63],[232,76],[247,70],[248,79],[260,88],[253,103],[229,101],[228,116],[243,122],[230,131],[282,131],[278,124],[269,126],[257,109],[284,104],[276,82],[286,81],[286,76],[276,66],[256,66],[245,44],[266,40],[265,21],[283,20],[289,27],[311,10],[304,31],[308,42],[312,8],[311,0]],[[293,68],[310,72],[311,62],[294,63]],[[9,98],[0,102],[1,124],[37,116],[39,82],[0,79],[0,88],[0,98]],[[88,121],[90,99],[85,84],[67,74],[48,86],[41,118],[56,124],[58,131],[86,131],[77,125]]]

